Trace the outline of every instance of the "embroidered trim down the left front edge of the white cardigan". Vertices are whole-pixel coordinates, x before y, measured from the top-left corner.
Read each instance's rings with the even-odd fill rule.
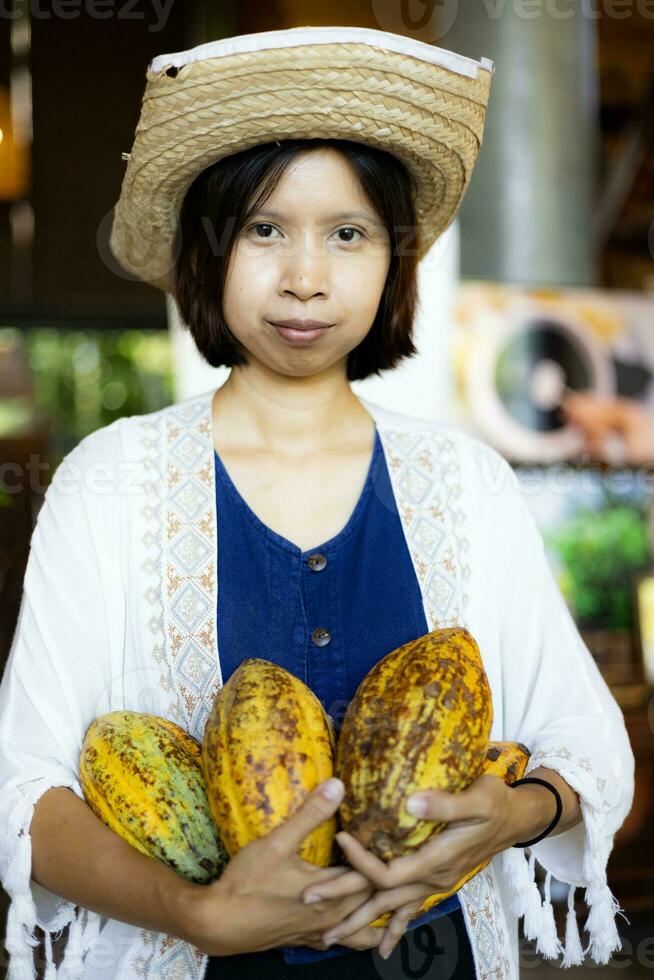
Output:
[[[213,393],[146,416],[143,430],[141,514],[146,531],[141,565],[151,608],[152,658],[169,697],[167,717],[202,739],[220,687],[216,657]],[[163,472],[158,465],[163,468]],[[200,980],[208,957],[191,943],[149,929],[142,950],[127,963],[136,976]]]

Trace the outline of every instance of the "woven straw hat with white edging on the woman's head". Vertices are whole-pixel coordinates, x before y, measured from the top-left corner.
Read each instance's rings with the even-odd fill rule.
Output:
[[[356,140],[415,178],[419,256],[454,219],[481,146],[493,62],[400,34],[296,27],[212,41],[148,66],[110,248],[170,290],[184,195],[222,157],[282,139]]]

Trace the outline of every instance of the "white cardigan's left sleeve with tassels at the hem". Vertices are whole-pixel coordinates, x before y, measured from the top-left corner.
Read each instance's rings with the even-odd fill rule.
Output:
[[[31,879],[34,805],[55,786],[84,798],[79,751],[103,683],[103,671],[94,664],[106,655],[108,629],[84,504],[83,459],[84,441],[65,457],[46,490],[0,684],[0,879],[10,901],[9,980],[36,976],[35,926],[45,932],[50,980],[57,976],[52,934],[70,925],[64,958],[69,963],[93,944],[101,920]]]

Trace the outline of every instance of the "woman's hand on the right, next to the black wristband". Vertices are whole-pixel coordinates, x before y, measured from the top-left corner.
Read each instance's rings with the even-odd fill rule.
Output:
[[[382,913],[394,911],[379,944],[380,953],[388,951],[390,955],[425,898],[451,891],[465,874],[514,843],[515,797],[511,799],[509,786],[499,776],[478,776],[458,793],[434,789],[412,797],[426,802],[424,814],[415,816],[446,821],[447,827],[411,854],[393,858],[386,864],[345,831],[336,835],[349,864],[364,874],[378,891],[338,928],[325,933],[326,942],[348,936],[374,922]],[[307,888],[306,894],[340,897],[339,879],[326,881],[319,889]]]

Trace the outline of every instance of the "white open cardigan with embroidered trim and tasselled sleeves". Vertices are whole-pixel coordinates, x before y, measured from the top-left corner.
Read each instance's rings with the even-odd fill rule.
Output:
[[[88,725],[148,711],[200,739],[221,685],[216,644],[213,390],[84,438],[58,467],[32,535],[16,633],[0,687],[0,876],[11,898],[9,980],[31,980],[34,926],[47,980],[184,977],[193,945],[77,908],[30,879],[34,803],[52,786],[83,798]],[[478,980],[518,980],[518,917],[561,965],[582,960],[572,901],[585,888],[584,953],[620,948],[606,883],[634,791],[624,718],[556,584],[509,464],[445,423],[359,399],[375,419],[430,629],[476,638],[493,695],[493,740],[524,742],[578,792],[583,821],[531,849],[507,848],[459,892]],[[389,502],[390,503],[390,502]],[[547,871],[545,901],[534,862]],[[569,882],[565,943],[550,878]],[[70,925],[55,969],[52,934]]]

